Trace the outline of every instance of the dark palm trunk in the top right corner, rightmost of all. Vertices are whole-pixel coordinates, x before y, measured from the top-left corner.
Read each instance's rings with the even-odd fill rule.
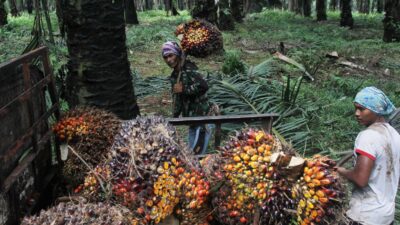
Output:
[[[383,41],[400,42],[400,0],[386,0]]]

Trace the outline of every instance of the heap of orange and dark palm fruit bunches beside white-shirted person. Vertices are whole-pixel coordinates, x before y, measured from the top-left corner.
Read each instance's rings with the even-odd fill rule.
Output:
[[[335,162],[305,161],[278,146],[272,135],[247,129],[221,148],[226,181],[212,200],[221,224],[326,224],[326,216],[338,215],[332,211],[341,207],[336,196],[342,193]]]

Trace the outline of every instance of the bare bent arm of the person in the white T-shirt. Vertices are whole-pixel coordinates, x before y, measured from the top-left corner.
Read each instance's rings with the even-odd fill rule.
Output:
[[[373,167],[374,160],[365,155],[359,154],[357,156],[356,165],[353,169],[349,170],[344,167],[338,167],[337,171],[340,175],[347,178],[358,187],[363,188],[368,185],[369,176],[371,175]]]

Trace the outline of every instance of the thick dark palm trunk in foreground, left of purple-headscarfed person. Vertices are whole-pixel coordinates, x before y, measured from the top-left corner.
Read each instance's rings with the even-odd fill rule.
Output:
[[[122,1],[66,1],[63,21],[69,52],[67,100],[93,105],[122,119],[139,114],[125,45]]]

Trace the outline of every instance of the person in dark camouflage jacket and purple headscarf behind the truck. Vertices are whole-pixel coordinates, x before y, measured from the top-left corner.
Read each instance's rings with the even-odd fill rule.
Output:
[[[198,67],[186,59],[178,43],[168,41],[162,45],[162,57],[173,69],[170,81],[173,99],[173,117],[208,116],[215,111],[207,98],[208,84],[197,71]],[[207,151],[213,124],[189,127],[189,148],[196,154]]]

